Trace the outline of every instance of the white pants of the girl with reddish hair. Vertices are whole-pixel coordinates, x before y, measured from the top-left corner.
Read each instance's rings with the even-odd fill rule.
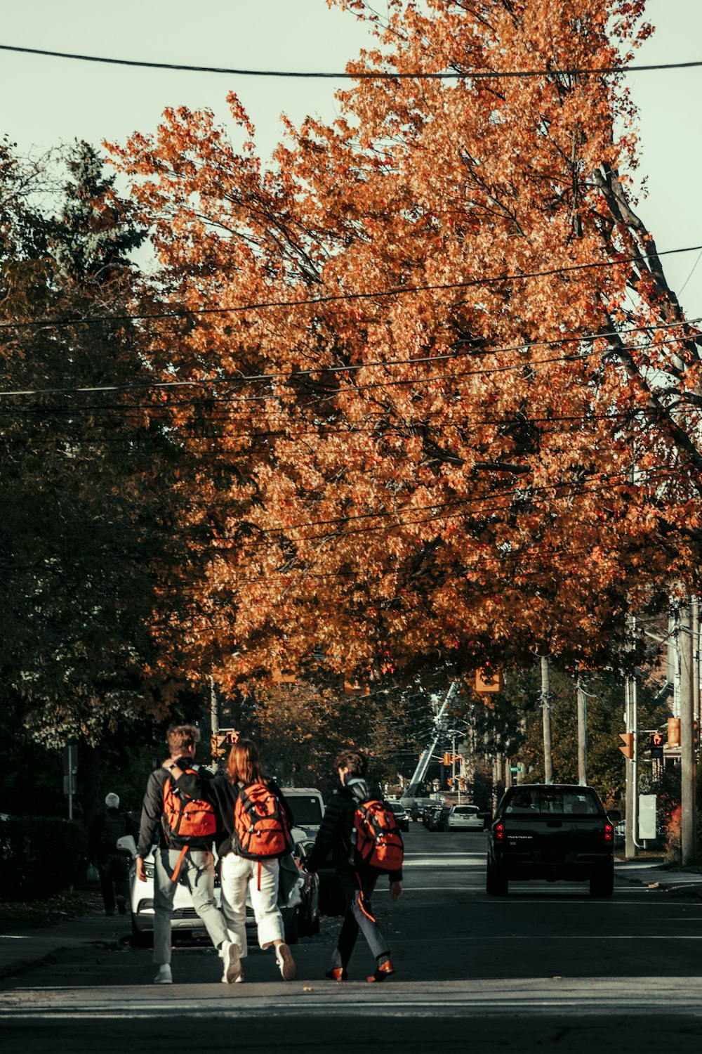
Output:
[[[259,871],[260,868],[260,871]],[[222,857],[220,884],[222,887],[222,914],[232,940],[239,948],[239,955],[246,955],[246,890],[250,892],[256,916],[258,941],[269,948],[275,940],[284,940],[283,917],[278,910],[277,860],[245,860],[236,853]],[[259,889],[260,885],[260,889]]]

